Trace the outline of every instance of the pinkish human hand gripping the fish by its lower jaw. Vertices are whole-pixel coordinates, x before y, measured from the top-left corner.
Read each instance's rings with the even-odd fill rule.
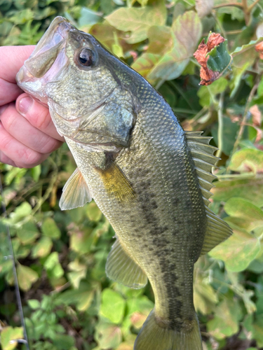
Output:
[[[33,45],[0,47],[0,162],[31,168],[62,145],[48,108],[22,92],[15,76]]]

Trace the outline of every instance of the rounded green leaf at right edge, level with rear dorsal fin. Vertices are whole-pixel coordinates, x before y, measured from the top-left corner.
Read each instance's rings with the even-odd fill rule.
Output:
[[[263,226],[263,211],[248,200],[234,197],[224,205],[224,211],[234,218],[238,218],[238,226],[249,232]]]

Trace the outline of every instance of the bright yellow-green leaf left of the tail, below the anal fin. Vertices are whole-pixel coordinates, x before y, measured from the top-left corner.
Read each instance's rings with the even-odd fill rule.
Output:
[[[121,323],[124,315],[125,300],[114,290],[105,288],[102,291],[102,304],[100,314],[109,319],[112,323]]]

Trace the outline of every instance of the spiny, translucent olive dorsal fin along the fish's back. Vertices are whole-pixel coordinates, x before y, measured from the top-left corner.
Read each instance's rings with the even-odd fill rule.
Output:
[[[218,148],[210,146],[209,142],[212,137],[203,137],[201,136],[202,132],[185,132],[185,134],[205,203],[207,228],[201,251],[201,255],[203,255],[231,236],[232,230],[226,222],[208,208],[209,198],[212,195],[210,189],[215,186],[212,181],[216,179],[216,176],[212,174],[212,167],[215,167],[217,160],[219,160],[213,154]]]

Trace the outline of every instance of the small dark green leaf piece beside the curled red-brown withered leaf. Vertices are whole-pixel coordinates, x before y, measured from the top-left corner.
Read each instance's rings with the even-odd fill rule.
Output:
[[[215,48],[208,52],[206,57],[208,56],[208,68],[212,71],[218,71],[221,74],[224,73],[232,61],[232,57],[227,52],[227,40],[215,46]]]

